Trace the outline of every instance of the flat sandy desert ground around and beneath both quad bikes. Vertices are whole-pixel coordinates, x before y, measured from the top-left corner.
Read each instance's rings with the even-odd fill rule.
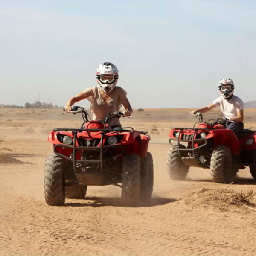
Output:
[[[0,108],[0,148],[20,161],[0,163],[0,255],[255,255],[256,211],[203,193],[255,190],[248,169],[240,170],[227,190],[227,184],[211,181],[209,169],[191,168],[186,181],[167,175],[170,127],[191,127],[196,121],[186,112],[152,109],[122,119],[124,126],[151,135],[150,206],[122,207],[119,188],[89,186],[84,200],[66,199],[63,207],[51,207],[44,201],[44,159],[52,152],[47,134],[52,128],[79,127],[80,117],[61,116],[60,110]],[[211,111],[206,119],[219,114]],[[246,128],[256,127],[255,114],[255,109],[245,111]]]

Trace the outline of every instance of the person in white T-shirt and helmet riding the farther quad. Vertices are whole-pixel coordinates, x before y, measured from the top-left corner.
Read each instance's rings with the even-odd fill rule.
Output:
[[[215,99],[207,107],[199,108],[189,113],[195,114],[196,112],[207,112],[211,109],[220,106],[223,115],[226,117],[227,122],[225,126],[227,129],[232,130],[236,135],[243,130],[244,124],[244,102],[237,96],[233,95],[234,82],[232,79],[224,78],[219,81],[218,90],[221,96]]]

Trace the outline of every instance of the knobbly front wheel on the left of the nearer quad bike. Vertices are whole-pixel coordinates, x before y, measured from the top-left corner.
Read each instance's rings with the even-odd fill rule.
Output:
[[[45,160],[44,198],[49,205],[62,205],[65,202],[63,160],[52,153]]]

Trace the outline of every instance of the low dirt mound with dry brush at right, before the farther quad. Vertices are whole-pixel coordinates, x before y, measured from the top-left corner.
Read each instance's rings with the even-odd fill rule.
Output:
[[[254,195],[253,190],[237,192],[231,189],[201,189],[199,192],[187,195],[183,198],[183,202],[192,207],[213,207],[226,211],[230,206],[240,207],[243,204],[256,206],[250,201]]]

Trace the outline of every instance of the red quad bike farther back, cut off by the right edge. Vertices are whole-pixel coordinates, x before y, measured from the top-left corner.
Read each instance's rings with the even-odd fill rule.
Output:
[[[167,155],[167,171],[172,180],[185,180],[189,166],[209,168],[216,183],[233,181],[239,169],[250,167],[256,180],[256,133],[244,129],[238,137],[225,128],[227,119],[203,122],[201,113],[193,128],[172,128],[171,148]]]

